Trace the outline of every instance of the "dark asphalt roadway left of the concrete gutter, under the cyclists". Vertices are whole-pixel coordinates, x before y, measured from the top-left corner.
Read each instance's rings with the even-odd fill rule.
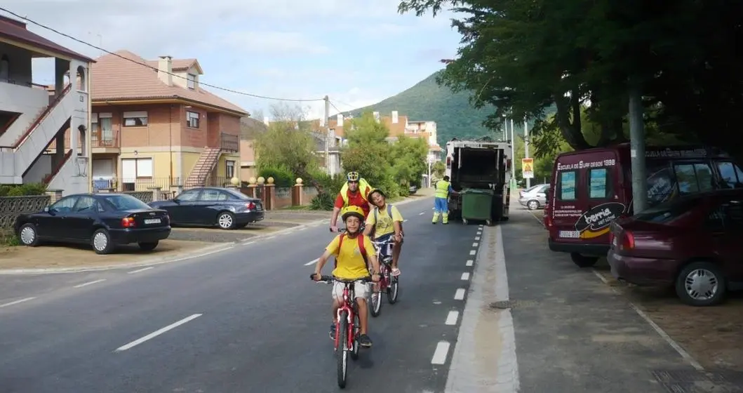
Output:
[[[446,365],[432,359],[455,342],[446,319],[463,307],[478,227],[433,226],[431,207],[400,205],[400,301],[370,319],[374,348],[349,370],[349,391],[444,389]],[[134,274],[29,277],[57,289],[0,307],[0,392],[337,391],[330,287],[308,278],[331,238],[322,225]]]

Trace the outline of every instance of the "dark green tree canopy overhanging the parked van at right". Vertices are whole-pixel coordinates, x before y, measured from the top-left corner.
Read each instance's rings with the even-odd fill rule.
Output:
[[[478,108],[495,106],[491,129],[503,115],[524,118],[542,154],[557,140],[573,149],[623,142],[636,86],[649,129],[743,157],[741,144],[727,143],[743,104],[742,1],[403,0],[399,10],[442,7],[458,11],[462,40],[438,82],[470,91]],[[597,140],[586,139],[585,120]]]

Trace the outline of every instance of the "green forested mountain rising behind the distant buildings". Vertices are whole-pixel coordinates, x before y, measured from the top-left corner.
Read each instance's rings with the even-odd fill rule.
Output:
[[[390,116],[392,111],[398,111],[408,120],[433,120],[436,122],[439,146],[444,146],[453,137],[462,139],[490,135],[499,140],[500,133],[493,134],[493,131],[482,126],[485,117],[495,109],[473,108],[469,92],[452,93],[446,86],[439,86],[436,84],[439,72],[379,103],[342,112],[343,116],[350,114],[359,117],[365,111],[378,111],[382,116]]]

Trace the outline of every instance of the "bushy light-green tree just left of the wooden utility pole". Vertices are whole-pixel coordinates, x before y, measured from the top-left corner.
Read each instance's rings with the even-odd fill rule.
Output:
[[[282,169],[300,178],[310,179],[317,169],[315,142],[311,124],[305,122],[299,108],[274,105],[273,121],[256,136],[256,166],[265,169]]]

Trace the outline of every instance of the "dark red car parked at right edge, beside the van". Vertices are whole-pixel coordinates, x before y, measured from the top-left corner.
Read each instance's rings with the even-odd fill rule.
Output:
[[[716,305],[743,290],[743,189],[678,198],[611,224],[611,274],[675,286],[682,302]]]

